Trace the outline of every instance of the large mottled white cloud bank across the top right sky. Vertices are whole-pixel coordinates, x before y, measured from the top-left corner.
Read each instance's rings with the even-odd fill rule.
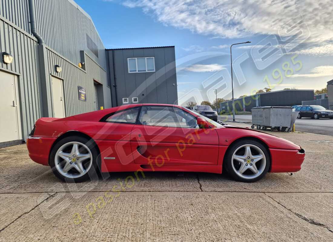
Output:
[[[126,0],[123,5],[140,7],[165,25],[213,38],[273,34],[283,41],[303,32],[296,42],[306,40],[318,47],[333,39],[333,4],[328,0]],[[322,48],[307,53],[316,51]]]

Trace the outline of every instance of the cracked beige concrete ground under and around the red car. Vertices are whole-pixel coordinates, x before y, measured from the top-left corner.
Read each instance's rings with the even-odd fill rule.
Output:
[[[305,149],[302,169],[255,183],[146,172],[126,187],[121,172],[66,184],[25,145],[0,149],[0,241],[333,241],[333,137],[274,134]]]

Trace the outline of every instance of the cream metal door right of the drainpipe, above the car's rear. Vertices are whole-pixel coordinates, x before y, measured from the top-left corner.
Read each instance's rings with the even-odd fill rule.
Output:
[[[53,117],[65,118],[63,80],[52,77]]]

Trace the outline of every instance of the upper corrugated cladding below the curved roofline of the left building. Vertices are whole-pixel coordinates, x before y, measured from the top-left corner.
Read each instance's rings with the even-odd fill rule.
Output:
[[[0,0],[0,14],[31,33],[28,6],[28,0]],[[35,0],[35,11],[37,32],[50,48],[76,64],[80,62],[80,50],[84,50],[106,69],[105,47],[95,25],[74,1]],[[98,47],[98,57],[87,46],[87,34]]]

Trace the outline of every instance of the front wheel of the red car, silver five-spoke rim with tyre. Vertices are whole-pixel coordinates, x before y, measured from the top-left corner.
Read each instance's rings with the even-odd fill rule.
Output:
[[[267,148],[255,140],[240,140],[234,143],[223,164],[235,180],[254,182],[268,171],[270,156]]]

